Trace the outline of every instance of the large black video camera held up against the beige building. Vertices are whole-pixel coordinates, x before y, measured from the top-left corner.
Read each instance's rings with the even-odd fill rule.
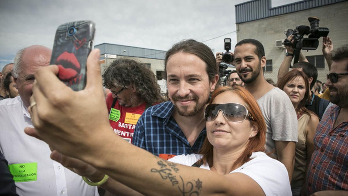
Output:
[[[288,29],[285,33],[286,39],[283,44],[285,46],[292,46],[294,50],[294,63],[299,61],[301,50],[317,50],[319,45],[318,38],[327,37],[330,30],[326,27],[319,27],[319,18],[309,17],[309,26],[300,25],[295,29]],[[293,35],[294,43],[291,44],[287,37]],[[308,38],[303,36],[308,35]]]

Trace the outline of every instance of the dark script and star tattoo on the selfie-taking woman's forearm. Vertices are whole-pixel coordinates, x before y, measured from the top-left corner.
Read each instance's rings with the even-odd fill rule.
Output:
[[[182,177],[179,175],[179,169],[176,167],[177,164],[169,162],[167,160],[161,159],[157,161],[157,165],[159,166],[159,168],[152,168],[151,172],[158,173],[163,180],[169,179],[172,182],[172,186],[177,185],[180,193],[183,196],[199,195],[200,189],[202,188],[202,181],[200,181],[199,179],[192,180],[196,183],[196,186],[194,186],[194,183],[191,181],[185,182],[184,179],[182,179]],[[177,174],[180,177],[180,184],[175,174]]]

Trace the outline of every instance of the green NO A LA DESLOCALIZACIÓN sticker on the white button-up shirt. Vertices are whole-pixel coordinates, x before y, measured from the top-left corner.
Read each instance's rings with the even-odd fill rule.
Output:
[[[38,163],[19,163],[8,165],[15,182],[37,180]]]

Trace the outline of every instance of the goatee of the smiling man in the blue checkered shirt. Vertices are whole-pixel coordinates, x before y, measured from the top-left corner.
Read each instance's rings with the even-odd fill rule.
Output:
[[[209,96],[209,95],[208,95]],[[193,106],[193,109],[189,110],[190,106],[177,106],[176,102],[180,100],[187,100],[190,99],[195,102],[195,106]],[[174,104],[174,107],[176,111],[181,115],[181,116],[194,116],[196,115],[200,110],[202,110],[207,103],[208,100],[203,101],[203,103],[199,103],[199,97],[195,94],[192,95],[187,95],[185,97],[180,97],[178,95],[173,95],[172,101]]]

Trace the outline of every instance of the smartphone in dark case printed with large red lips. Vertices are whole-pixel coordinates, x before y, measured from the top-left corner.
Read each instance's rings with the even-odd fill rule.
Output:
[[[57,28],[50,64],[58,66],[58,78],[74,91],[86,86],[86,62],[94,32],[95,24],[88,20],[64,23]]]

